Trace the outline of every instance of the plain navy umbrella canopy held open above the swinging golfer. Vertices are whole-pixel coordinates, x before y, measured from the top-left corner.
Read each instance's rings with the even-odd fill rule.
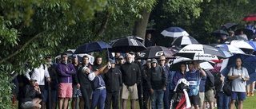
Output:
[[[85,45],[78,46],[78,49],[76,49],[74,53],[79,54],[79,53],[100,52],[104,49],[110,49],[110,48],[111,46],[104,41],[94,41],[94,42],[86,43]]]

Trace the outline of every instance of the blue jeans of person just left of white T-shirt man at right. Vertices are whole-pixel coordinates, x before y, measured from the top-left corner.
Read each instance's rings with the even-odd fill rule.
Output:
[[[223,91],[220,91],[217,98],[218,109],[228,109],[229,104],[230,96],[227,96]]]

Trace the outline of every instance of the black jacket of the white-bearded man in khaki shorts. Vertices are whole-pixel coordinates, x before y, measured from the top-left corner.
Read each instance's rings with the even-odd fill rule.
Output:
[[[128,63],[122,64],[121,66],[122,72],[122,82],[126,86],[133,86],[134,84],[139,83],[139,78],[141,76],[140,68],[138,64]]]

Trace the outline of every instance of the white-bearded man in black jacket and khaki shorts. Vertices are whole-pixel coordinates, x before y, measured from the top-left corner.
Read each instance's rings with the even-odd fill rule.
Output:
[[[138,64],[134,64],[133,56],[131,54],[126,55],[126,63],[122,64],[122,107],[126,109],[127,99],[130,94],[131,108],[136,108],[136,99],[138,99],[137,84],[140,78],[140,69]]]

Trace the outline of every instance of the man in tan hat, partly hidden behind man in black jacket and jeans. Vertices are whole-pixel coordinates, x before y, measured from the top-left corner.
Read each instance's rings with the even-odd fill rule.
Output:
[[[171,72],[169,71],[169,67],[168,64],[166,64],[166,57],[165,56],[160,56],[159,58],[159,65],[160,67],[162,67],[166,73],[166,91],[164,91],[164,95],[163,95],[163,106],[164,109],[170,109],[170,88],[168,86],[170,86],[170,77],[171,77]]]

